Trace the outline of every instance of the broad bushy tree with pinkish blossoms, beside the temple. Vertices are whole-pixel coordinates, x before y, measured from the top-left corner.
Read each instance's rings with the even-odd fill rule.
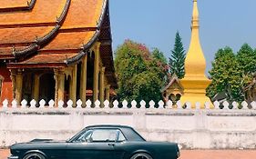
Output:
[[[127,40],[118,46],[115,55],[118,98],[159,101],[160,88],[168,72],[166,59],[159,49],[151,53],[146,45]]]

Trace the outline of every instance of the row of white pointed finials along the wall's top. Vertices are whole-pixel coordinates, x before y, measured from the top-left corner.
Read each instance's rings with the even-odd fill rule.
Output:
[[[147,105],[147,106],[146,106]],[[195,103],[195,108],[196,109],[201,109],[201,104],[200,102]],[[253,101],[251,103],[247,103],[246,101],[241,102],[239,104],[238,102],[232,102],[229,103],[227,101],[220,103],[218,101],[215,101],[213,103],[214,109],[256,109],[256,102]],[[162,100],[160,100],[158,103],[154,102],[153,100],[149,101],[148,104],[142,100],[139,103],[136,102],[135,100],[131,101],[130,104],[128,104],[127,100],[124,100],[122,102],[118,102],[115,100],[113,103],[109,103],[108,100],[104,101],[103,104],[100,103],[100,101],[95,101],[95,103],[92,103],[92,101],[87,100],[85,104],[79,99],[77,100],[76,104],[72,100],[68,100],[67,104],[64,103],[64,101],[60,100],[57,102],[55,106],[55,101],[50,100],[47,104],[44,99],[40,100],[38,103],[36,102],[35,99],[31,100],[29,103],[24,99],[21,102],[21,105],[18,105],[17,102],[14,100],[11,103],[9,103],[8,100],[4,100],[3,102],[3,108],[7,107],[20,107],[20,108],[44,108],[44,107],[58,107],[58,108],[68,108],[68,107],[73,107],[73,108],[177,108],[177,109],[191,109],[191,103],[186,102],[185,104],[182,104],[180,101],[178,101],[176,104],[174,104],[172,101],[168,101],[167,103],[164,103]],[[1,108],[1,107],[0,107]],[[204,103],[203,108],[205,109],[211,109],[210,108],[210,103]]]

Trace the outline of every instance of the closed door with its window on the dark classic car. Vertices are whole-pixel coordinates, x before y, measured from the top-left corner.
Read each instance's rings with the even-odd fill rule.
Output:
[[[67,144],[67,158],[74,159],[114,159],[116,129],[95,128],[80,134]]]

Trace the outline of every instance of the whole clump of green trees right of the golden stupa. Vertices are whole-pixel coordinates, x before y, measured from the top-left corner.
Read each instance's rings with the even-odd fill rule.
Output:
[[[230,101],[244,100],[242,89],[251,82],[252,73],[256,71],[255,64],[256,53],[250,45],[242,45],[237,55],[230,47],[220,49],[212,63],[212,82],[207,94],[212,98],[215,94],[225,92]]]

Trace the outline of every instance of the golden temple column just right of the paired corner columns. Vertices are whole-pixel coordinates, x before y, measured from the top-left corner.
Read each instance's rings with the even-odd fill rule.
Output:
[[[70,85],[70,99],[73,101],[73,106],[77,102],[77,65],[74,65],[71,76],[71,85]]]

